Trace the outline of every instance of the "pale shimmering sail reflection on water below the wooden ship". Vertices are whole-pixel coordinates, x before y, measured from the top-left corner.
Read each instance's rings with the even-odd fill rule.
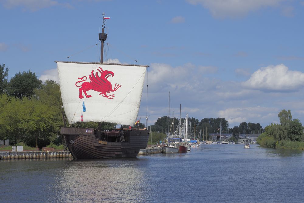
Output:
[[[125,202],[142,197],[145,177],[138,159],[75,160],[58,174],[58,201]],[[54,190],[54,188],[51,188]]]

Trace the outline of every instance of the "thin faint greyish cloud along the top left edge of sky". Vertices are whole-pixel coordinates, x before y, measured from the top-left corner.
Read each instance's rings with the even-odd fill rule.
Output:
[[[59,3],[58,1],[53,0],[3,0],[2,4],[6,9],[22,7],[24,10],[30,10],[33,12],[39,9],[44,9],[57,5],[71,8],[71,5],[68,3]]]

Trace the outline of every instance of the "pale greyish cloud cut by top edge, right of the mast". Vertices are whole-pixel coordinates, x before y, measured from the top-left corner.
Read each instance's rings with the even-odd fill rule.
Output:
[[[278,6],[285,0],[187,0],[190,4],[201,4],[216,18],[245,16],[249,12]]]

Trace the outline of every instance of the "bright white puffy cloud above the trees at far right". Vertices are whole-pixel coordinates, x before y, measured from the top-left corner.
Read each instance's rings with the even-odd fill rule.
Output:
[[[250,79],[242,82],[250,89],[286,91],[296,90],[304,85],[304,73],[290,71],[283,64],[258,69]]]

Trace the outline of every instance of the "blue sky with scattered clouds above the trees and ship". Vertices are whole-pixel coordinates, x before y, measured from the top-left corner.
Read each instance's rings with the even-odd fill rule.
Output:
[[[148,125],[169,114],[169,91],[171,116],[181,104],[182,117],[230,127],[265,127],[282,109],[303,122],[303,11],[296,0],[0,0],[0,63],[9,78],[56,80],[54,61],[99,61],[105,12],[105,59],[150,65]],[[146,106],[144,86],[143,123]]]

